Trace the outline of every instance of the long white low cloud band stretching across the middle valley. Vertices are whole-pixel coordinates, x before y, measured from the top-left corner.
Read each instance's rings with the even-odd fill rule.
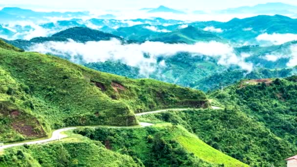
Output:
[[[215,48],[215,49],[213,49]],[[116,39],[110,41],[79,43],[44,42],[31,46],[28,50],[54,55],[70,56],[71,61],[78,62],[81,57],[86,63],[119,60],[131,66],[140,68],[144,75],[155,70],[159,56],[169,57],[179,52],[189,52],[193,56],[205,55],[218,59],[220,65],[238,64],[241,68],[251,71],[253,64],[244,62],[245,56],[237,56],[229,44],[220,42],[197,42],[195,44],[169,44],[163,42],[144,42],[141,44],[122,44]],[[146,58],[144,54],[148,55]],[[161,62],[159,65],[166,65]]]

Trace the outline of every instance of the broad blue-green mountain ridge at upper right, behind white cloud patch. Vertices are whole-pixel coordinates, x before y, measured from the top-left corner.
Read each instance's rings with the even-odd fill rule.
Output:
[[[264,33],[297,34],[297,20],[281,15],[259,15],[245,19],[234,18],[228,22],[193,22],[190,25],[202,29],[205,27],[220,28],[223,32],[219,33],[219,36],[235,43],[258,44],[256,37]]]

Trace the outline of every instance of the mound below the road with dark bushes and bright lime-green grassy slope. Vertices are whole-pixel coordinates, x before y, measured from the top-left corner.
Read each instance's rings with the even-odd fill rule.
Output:
[[[179,125],[145,128],[82,128],[75,131],[106,148],[139,158],[146,167],[245,167],[243,163],[208,146]]]

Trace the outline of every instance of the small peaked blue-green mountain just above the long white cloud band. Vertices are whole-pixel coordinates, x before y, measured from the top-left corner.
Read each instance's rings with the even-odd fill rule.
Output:
[[[193,26],[188,26],[187,28],[179,29],[173,32],[159,34],[157,37],[150,39],[150,41],[165,43],[195,43],[199,41],[223,42],[224,40],[211,32],[199,30]]]

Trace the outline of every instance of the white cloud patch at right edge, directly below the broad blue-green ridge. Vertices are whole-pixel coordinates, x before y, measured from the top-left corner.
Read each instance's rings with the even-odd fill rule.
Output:
[[[258,37],[256,37],[257,41],[266,41],[266,42],[272,42],[273,44],[283,44],[290,41],[297,40],[297,34],[261,34]]]

